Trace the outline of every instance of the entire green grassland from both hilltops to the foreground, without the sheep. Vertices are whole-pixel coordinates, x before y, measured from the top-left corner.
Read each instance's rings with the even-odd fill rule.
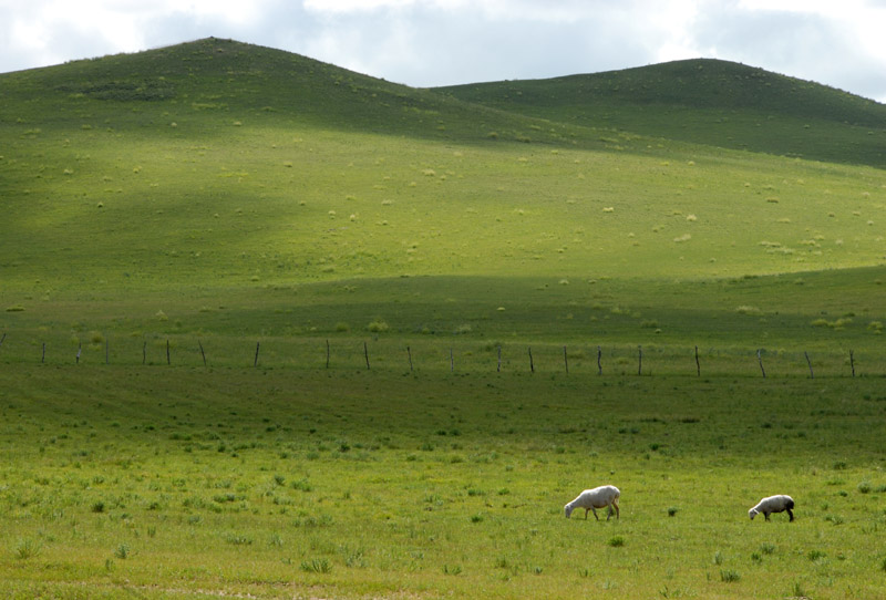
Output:
[[[883,597],[885,123],[723,61],[0,75],[0,592]]]

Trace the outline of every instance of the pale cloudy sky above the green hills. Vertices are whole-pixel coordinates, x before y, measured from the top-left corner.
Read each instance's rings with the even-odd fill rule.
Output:
[[[713,58],[886,103],[886,0],[0,0],[0,73],[216,37],[415,87]]]

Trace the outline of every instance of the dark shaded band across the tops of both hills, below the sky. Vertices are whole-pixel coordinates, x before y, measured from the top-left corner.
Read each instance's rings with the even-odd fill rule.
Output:
[[[266,121],[441,141],[600,147],[599,130],[886,166],[886,106],[740,63],[694,59],[546,80],[416,89],[270,48],[207,38],[0,75],[40,120],[79,100],[183,103]],[[61,103],[61,111],[54,106]],[[3,111],[0,110],[0,118]],[[22,117],[21,114],[17,115]],[[494,135],[493,135],[494,134]]]

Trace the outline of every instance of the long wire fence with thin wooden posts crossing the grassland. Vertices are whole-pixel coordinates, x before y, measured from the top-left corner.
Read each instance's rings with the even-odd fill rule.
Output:
[[[884,376],[883,356],[852,349],[558,344],[468,338],[216,335],[105,337],[0,333],[0,365],[120,365],[206,369],[395,370],[404,373],[585,373],[688,376]]]

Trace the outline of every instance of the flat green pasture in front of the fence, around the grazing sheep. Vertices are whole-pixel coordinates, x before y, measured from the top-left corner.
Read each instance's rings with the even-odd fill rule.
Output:
[[[0,370],[7,598],[882,598],[882,377]],[[567,520],[585,487],[621,518]],[[749,520],[769,494],[796,520]]]

